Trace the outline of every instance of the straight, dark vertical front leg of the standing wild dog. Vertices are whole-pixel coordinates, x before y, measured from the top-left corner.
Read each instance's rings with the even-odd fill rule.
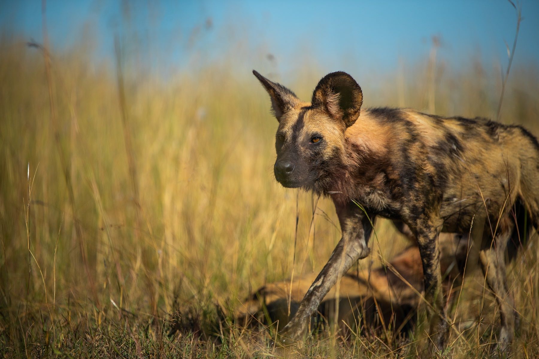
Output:
[[[429,347],[434,345],[438,350],[444,348],[447,332],[438,247],[438,235],[442,225],[443,221],[437,216],[429,216],[419,219],[414,228],[423,263],[425,299],[432,305],[432,307],[427,305],[429,335],[431,335]]]

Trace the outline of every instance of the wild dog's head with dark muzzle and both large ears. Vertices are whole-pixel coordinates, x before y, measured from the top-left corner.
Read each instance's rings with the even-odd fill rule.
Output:
[[[310,103],[253,71],[271,98],[279,121],[275,135],[275,179],[284,187],[329,191],[344,165],[344,131],[360,115],[361,87],[347,73],[330,73],[316,86]]]

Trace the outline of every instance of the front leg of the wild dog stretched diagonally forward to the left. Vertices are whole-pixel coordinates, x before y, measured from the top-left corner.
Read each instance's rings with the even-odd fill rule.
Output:
[[[281,345],[293,344],[305,334],[310,316],[320,305],[322,299],[331,287],[337,283],[338,278],[357,261],[369,255],[367,245],[372,230],[368,217],[359,208],[349,207],[338,210],[343,235],[333,250],[328,263],[318,274],[301,300],[298,312],[279,334],[278,342]]]

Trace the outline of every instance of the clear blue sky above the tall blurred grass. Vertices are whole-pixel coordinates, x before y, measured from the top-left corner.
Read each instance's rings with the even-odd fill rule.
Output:
[[[514,64],[538,64],[539,2],[522,0],[521,5],[524,20]],[[41,0],[13,1],[0,9],[3,31],[42,40]],[[281,68],[297,68],[312,60],[328,71],[346,69],[354,62],[367,72],[424,59],[434,35],[441,37],[439,57],[452,66],[478,57],[487,65],[506,66],[504,40],[512,45],[516,22],[515,10],[506,0],[49,0],[46,16],[55,48],[70,48],[87,34],[94,39],[93,55],[98,60],[112,58],[114,33],[120,33],[136,39],[146,61],[164,68],[232,54],[242,66],[264,70],[268,67],[262,63],[267,61],[264,54],[272,54]]]

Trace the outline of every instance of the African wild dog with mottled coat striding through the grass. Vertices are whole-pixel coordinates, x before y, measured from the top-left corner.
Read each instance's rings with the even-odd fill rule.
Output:
[[[258,72],[279,121],[274,174],[285,187],[328,195],[342,238],[310,286],[282,343],[300,339],[337,279],[369,254],[369,217],[407,227],[423,263],[431,344],[444,348],[447,320],[440,292],[440,231],[480,237],[479,261],[500,307],[502,349],[514,335],[513,299],[503,257],[521,200],[539,225],[539,144],[526,129],[487,119],[440,117],[411,109],[361,111],[363,94],[347,73],[330,73],[310,103]],[[362,207],[358,206],[361,205]]]

